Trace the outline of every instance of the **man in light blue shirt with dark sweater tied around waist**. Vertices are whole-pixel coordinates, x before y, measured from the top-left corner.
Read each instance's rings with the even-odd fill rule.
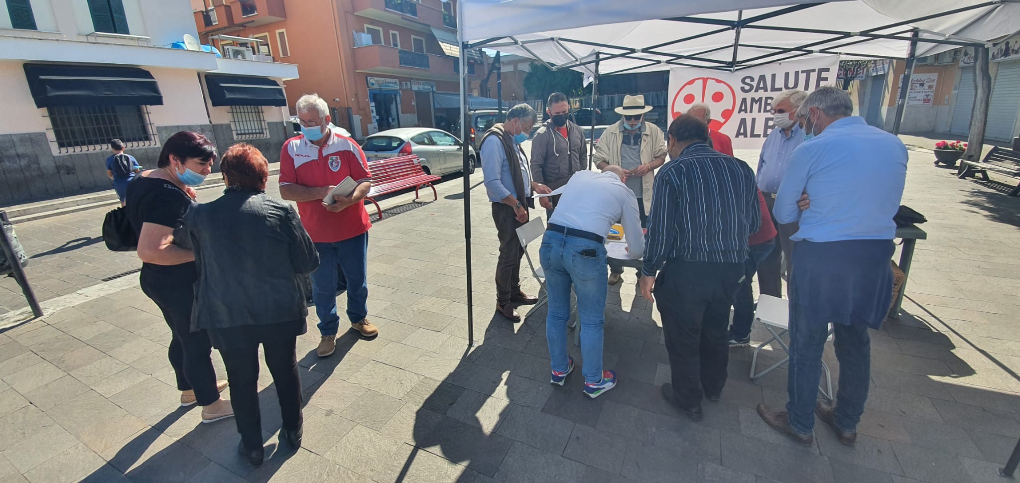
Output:
[[[815,414],[846,445],[868,398],[871,341],[889,310],[892,238],[907,178],[907,148],[894,135],[852,116],[850,95],[819,88],[801,106],[804,142],[790,157],[773,213],[800,221],[789,275],[789,375],[785,411],[758,405],[772,428],[802,445],[814,442]],[[809,206],[798,202],[808,195]],[[821,359],[834,330],[839,385],[834,406],[818,403]]]

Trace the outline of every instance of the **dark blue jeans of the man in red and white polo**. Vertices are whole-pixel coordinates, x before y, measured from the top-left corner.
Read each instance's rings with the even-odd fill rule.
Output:
[[[332,244],[315,244],[319,266],[312,272],[312,300],[318,315],[319,333],[336,335],[340,326],[337,316],[337,289],[347,289],[347,318],[361,322],[368,315],[368,232]],[[339,267],[339,270],[338,270]],[[339,280],[338,272],[344,275]]]

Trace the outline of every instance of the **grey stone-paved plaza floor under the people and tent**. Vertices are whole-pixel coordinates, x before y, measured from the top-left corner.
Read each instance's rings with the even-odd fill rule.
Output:
[[[737,156],[756,164],[755,151]],[[1020,437],[1020,200],[932,160],[911,152],[904,204],[928,217],[928,239],[918,243],[902,317],[871,332],[855,447],[820,423],[811,447],[770,430],[754,408],[785,403],[786,374],[750,381],[751,347],[731,351],[729,381],[719,403],[704,404],[704,421],[669,407],[658,387],[669,379],[660,316],[635,294],[631,270],[606,307],[605,366],[619,385],[597,399],[581,393],[579,373],[550,385],[545,311],[518,324],[495,315],[498,242],[478,171],[473,306],[456,178],[439,186],[439,201],[400,204],[370,231],[377,337],[348,333],[319,359],[309,317],[298,339],[306,406],[296,451],[277,450],[278,406],[263,367],[267,458],[258,469],[237,455],[233,420],[199,424],[198,409],[177,407],[169,331],[137,275],[99,281],[139,266],[98,240],[105,210],[17,224],[49,312],[0,332],[0,483],[1002,481],[996,469]],[[529,250],[537,260],[538,244]],[[21,309],[12,280],[0,282],[9,292],[0,314]],[[523,286],[538,291],[533,280]],[[756,328],[752,339],[764,338]],[[571,354],[581,362],[576,346]],[[780,353],[763,354],[771,363]],[[837,375],[831,346],[826,360]],[[215,352],[213,361],[225,377]]]

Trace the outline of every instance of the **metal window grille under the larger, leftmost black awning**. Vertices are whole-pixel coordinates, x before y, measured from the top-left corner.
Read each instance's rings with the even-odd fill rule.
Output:
[[[59,106],[46,112],[58,153],[105,151],[113,139],[131,148],[157,145],[148,106]]]

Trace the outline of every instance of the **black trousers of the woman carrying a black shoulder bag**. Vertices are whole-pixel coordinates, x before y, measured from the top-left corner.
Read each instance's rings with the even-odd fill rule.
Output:
[[[168,357],[177,379],[177,389],[194,390],[199,406],[219,399],[216,371],[212,368],[212,342],[204,330],[191,331],[191,310],[195,292],[192,285],[161,282],[141,277],[142,291],[156,303],[170,327],[172,339]]]

